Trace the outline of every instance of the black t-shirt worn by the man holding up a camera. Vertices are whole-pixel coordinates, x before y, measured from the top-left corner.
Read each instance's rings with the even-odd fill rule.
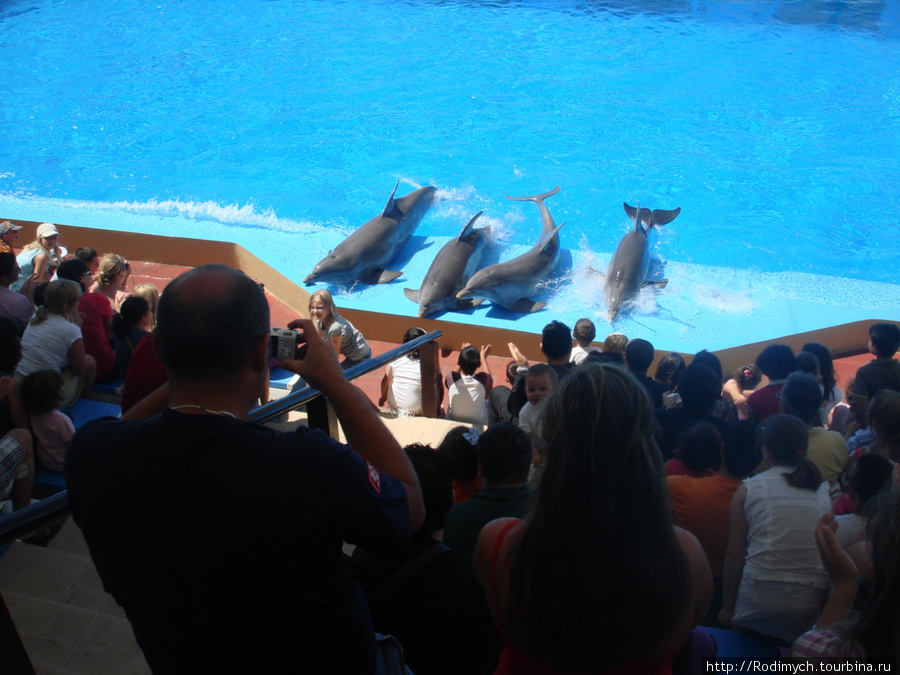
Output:
[[[69,503],[154,673],[367,673],[344,540],[409,540],[406,492],[348,446],[222,416],[103,418],[69,449]]]

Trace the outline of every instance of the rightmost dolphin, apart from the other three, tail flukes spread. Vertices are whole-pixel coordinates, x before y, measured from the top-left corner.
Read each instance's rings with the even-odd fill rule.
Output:
[[[681,213],[680,206],[671,211],[642,209],[640,202],[637,208],[627,203],[622,206],[634,221],[634,229],[622,237],[606,269],[603,293],[606,295],[607,315],[611,322],[618,316],[622,305],[634,300],[642,286],[652,284],[663,288],[668,283],[668,279],[647,281],[652,245],[650,236],[654,234],[654,226],[671,223]]]

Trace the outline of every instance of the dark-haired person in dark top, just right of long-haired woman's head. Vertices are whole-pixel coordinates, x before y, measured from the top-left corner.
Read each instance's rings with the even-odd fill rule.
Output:
[[[721,394],[722,384],[709,366],[692,363],[685,368],[678,380],[678,391],[681,395],[680,408],[656,410],[661,434],[660,450],[666,461],[674,456],[675,446],[682,435],[698,422],[709,422],[719,430],[723,438],[731,426],[730,422],[712,414]]]

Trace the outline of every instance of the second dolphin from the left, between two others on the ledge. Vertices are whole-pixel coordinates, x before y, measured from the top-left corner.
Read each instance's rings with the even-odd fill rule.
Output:
[[[419,303],[419,316],[428,316],[435,312],[450,309],[468,309],[483,300],[459,300],[457,292],[461,291],[469,277],[478,268],[481,256],[487,244],[490,227],[476,230],[475,221],[484,211],[475,214],[463,228],[459,236],[438,251],[422,280],[422,287],[417,291],[404,288],[406,297]]]

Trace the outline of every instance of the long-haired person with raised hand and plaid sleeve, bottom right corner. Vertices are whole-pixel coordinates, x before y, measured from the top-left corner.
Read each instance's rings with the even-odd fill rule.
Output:
[[[796,659],[854,659],[859,662],[897,663],[900,638],[900,490],[886,492],[878,499],[868,526],[872,549],[872,598],[860,614],[851,619],[859,570],[835,537],[831,514],[825,514],[816,528],[816,544],[822,562],[834,584],[828,604],[815,627],[794,641],[791,657]]]

